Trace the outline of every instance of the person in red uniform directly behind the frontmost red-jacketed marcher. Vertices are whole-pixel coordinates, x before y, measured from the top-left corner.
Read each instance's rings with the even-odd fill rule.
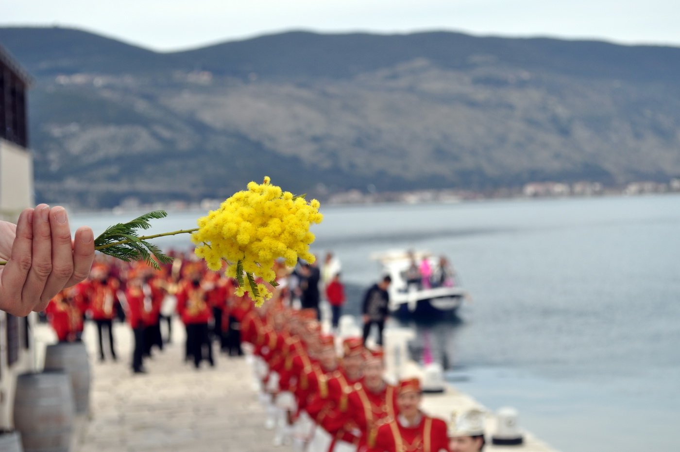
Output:
[[[343,420],[345,425],[354,424],[350,434],[356,437],[354,442],[358,452],[367,451],[380,423],[394,419],[397,414],[396,388],[386,383],[384,372],[384,353],[381,350],[368,351],[364,376],[347,396]]]

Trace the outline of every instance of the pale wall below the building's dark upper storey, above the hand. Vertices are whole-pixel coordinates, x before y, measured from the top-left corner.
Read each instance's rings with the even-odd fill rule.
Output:
[[[26,148],[0,139],[0,219],[16,221],[33,206],[33,156]]]

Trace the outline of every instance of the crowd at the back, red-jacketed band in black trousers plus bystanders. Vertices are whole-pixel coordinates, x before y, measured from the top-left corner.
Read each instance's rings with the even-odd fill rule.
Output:
[[[86,321],[97,325],[99,359],[117,359],[114,321],[126,321],[133,331],[135,347],[132,369],[144,373],[143,361],[171,342],[173,317],[186,327],[185,357],[199,368],[204,361],[215,365],[213,344],[227,355],[242,355],[240,324],[252,302],[237,297],[233,281],[220,272],[207,270],[192,253],[170,253],[173,263],[156,270],[146,263],[124,262],[97,256],[86,280],[52,298],[45,314],[61,342],[78,341]],[[333,306],[337,327],[340,306],[345,302],[339,262],[329,253],[335,270],[321,277],[316,264],[302,264],[289,271],[277,268],[277,296],[290,304],[320,314],[320,287]],[[324,264],[324,270],[328,265]],[[165,327],[162,328],[161,325]],[[162,333],[165,329],[165,334]],[[164,337],[165,336],[165,337]]]

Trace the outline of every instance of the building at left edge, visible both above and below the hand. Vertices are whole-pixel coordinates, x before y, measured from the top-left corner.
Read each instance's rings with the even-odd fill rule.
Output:
[[[0,46],[0,219],[16,221],[33,205],[33,157],[29,150],[28,74]],[[12,430],[16,376],[35,370],[32,324],[0,312],[0,430]],[[1,447],[0,447],[1,449]]]

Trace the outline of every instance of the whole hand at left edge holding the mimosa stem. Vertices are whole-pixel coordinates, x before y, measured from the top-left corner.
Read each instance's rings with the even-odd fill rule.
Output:
[[[0,221],[0,310],[17,316],[44,310],[65,287],[84,280],[95,258],[92,229],[71,229],[66,210],[40,204],[16,225]]]

